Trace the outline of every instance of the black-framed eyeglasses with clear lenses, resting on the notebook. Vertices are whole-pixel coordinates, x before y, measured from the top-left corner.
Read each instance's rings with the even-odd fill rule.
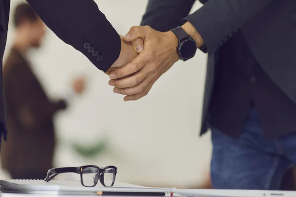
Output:
[[[112,187],[115,182],[117,167],[110,165],[100,168],[96,165],[84,165],[79,167],[52,168],[47,171],[46,178],[43,180],[48,182],[57,175],[68,172],[80,174],[80,182],[84,187],[96,186],[99,179],[104,187]]]

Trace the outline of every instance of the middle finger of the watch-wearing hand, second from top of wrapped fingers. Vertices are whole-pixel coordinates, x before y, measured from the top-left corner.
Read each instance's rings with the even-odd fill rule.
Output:
[[[111,86],[115,88],[129,88],[140,84],[150,73],[149,66],[145,66],[138,72],[134,73],[129,77],[124,77],[121,79],[113,79],[109,81]]]

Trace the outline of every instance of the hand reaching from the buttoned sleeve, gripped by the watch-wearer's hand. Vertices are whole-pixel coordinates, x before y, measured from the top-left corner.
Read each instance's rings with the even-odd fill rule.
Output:
[[[126,42],[121,37],[121,51],[119,54],[118,59],[114,62],[114,64],[111,66],[111,68],[108,69],[106,74],[110,74],[113,70],[116,70],[116,68],[122,67],[130,63],[134,58],[138,56],[135,49],[131,45],[130,42]],[[142,40],[141,38],[138,38]]]

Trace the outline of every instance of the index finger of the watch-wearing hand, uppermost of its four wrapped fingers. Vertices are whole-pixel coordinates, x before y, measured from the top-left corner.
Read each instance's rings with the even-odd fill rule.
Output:
[[[138,57],[136,57],[132,62],[130,62],[126,66],[123,66],[121,68],[118,68],[112,71],[109,75],[110,79],[119,79],[137,72],[148,63],[147,57],[148,56],[146,55],[146,52],[143,51],[142,53],[139,54]]]

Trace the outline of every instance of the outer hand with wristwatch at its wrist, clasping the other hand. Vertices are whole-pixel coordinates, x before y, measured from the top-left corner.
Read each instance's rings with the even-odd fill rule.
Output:
[[[144,50],[130,64],[110,73],[109,84],[115,86],[114,93],[127,95],[125,101],[147,95],[154,82],[179,60],[176,50],[178,39],[174,33],[135,26],[124,38],[133,41],[138,37],[144,40]],[[137,43],[134,41],[133,45]],[[130,74],[133,75],[128,76]]]

